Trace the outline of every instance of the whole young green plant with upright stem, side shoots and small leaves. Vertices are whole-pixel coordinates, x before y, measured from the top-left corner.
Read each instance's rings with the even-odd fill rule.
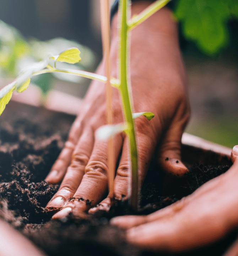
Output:
[[[107,0],[102,0],[105,2]],[[119,17],[120,17],[120,27],[119,27],[119,60],[118,60],[118,78],[110,78],[110,85],[118,88],[121,97],[121,106],[124,114],[124,123],[121,124],[108,124],[97,130],[96,135],[101,139],[109,139],[114,134],[118,132],[125,132],[129,139],[129,150],[131,158],[131,196],[130,203],[133,208],[137,208],[138,202],[138,157],[137,157],[137,147],[136,147],[136,134],[134,129],[133,119],[141,115],[145,116],[148,120],[153,118],[154,114],[151,112],[141,112],[132,113],[132,101],[130,97],[130,75],[128,72],[128,35],[134,27],[138,26],[141,22],[150,17],[157,10],[161,9],[170,0],[158,0],[148,6],[140,14],[129,19],[129,0],[119,1]],[[103,14],[104,15],[104,14]],[[109,22],[109,19],[108,19]],[[108,26],[105,24],[104,26]],[[107,58],[109,58],[107,56]],[[82,70],[72,70],[72,69],[59,69],[57,68],[58,62],[67,63],[77,63],[81,60],[80,51],[77,48],[70,48],[64,52],[61,52],[58,56],[49,56],[45,60],[35,63],[27,68],[25,68],[21,74],[9,85],[5,86],[0,91],[0,114],[4,111],[6,104],[10,101],[13,91],[23,92],[25,91],[30,83],[32,76],[61,72],[68,73],[71,75],[86,77],[89,79],[97,80],[103,83],[108,82],[108,78],[105,76],[97,75],[95,73],[82,71]],[[107,72],[108,73],[108,72]],[[110,175],[109,175],[110,176]],[[112,175],[111,175],[112,176]],[[113,196],[112,185],[109,186],[109,195]]]

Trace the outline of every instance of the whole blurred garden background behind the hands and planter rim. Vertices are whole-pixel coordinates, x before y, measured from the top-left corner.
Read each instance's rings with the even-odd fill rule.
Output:
[[[232,147],[238,144],[238,1],[173,0],[170,7],[189,78],[186,131]],[[80,49],[80,69],[95,70],[102,57],[98,0],[1,0],[0,20],[2,78],[69,47]],[[50,74],[33,82],[42,93],[53,88],[81,98],[90,82],[57,78],[67,82]]]

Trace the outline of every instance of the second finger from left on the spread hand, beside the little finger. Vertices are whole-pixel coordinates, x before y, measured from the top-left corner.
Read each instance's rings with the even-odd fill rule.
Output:
[[[92,153],[92,149],[93,130],[91,127],[86,127],[72,154],[71,164],[67,168],[60,188],[53,196],[52,200],[49,201],[46,208],[62,208],[66,201],[74,196],[82,181],[85,173],[85,167]]]

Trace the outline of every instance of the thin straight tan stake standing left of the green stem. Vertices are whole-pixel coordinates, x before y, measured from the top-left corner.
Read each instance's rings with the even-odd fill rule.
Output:
[[[106,64],[106,105],[107,105],[107,124],[113,124],[112,113],[112,87],[110,85],[110,18],[109,18],[109,1],[101,0],[101,31],[102,31],[102,45],[103,57]],[[114,198],[114,153],[113,153],[113,138],[108,139],[108,197],[113,200]]]

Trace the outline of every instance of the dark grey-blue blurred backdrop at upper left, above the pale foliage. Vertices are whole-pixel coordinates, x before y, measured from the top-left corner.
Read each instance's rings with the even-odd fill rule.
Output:
[[[99,0],[1,0],[0,19],[26,38],[64,37],[101,55]]]

